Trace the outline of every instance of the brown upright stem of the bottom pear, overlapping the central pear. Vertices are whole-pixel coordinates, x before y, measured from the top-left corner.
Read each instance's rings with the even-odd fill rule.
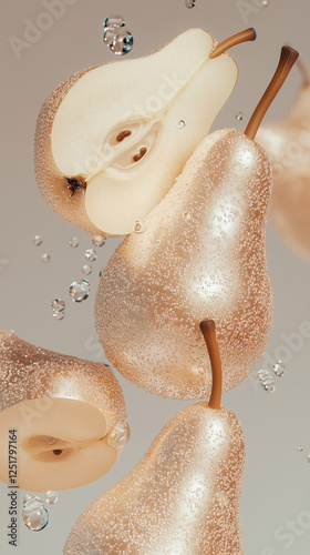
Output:
[[[202,322],[200,330],[208,347],[213,373],[213,389],[208,406],[209,408],[220,408],[223,372],[214,320]]]

